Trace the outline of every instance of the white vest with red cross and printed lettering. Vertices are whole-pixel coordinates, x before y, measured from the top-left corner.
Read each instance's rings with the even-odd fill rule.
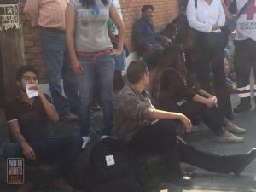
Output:
[[[248,0],[236,0],[237,10],[247,3]],[[247,9],[236,21],[236,40],[246,40],[247,38],[256,41],[256,1],[253,0],[247,5]]]

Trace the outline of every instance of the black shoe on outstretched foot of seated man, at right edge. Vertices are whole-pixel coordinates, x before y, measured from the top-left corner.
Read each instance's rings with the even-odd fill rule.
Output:
[[[241,172],[256,158],[256,148],[252,148],[247,154],[243,155],[243,160],[239,166],[233,171],[235,176],[239,176]]]

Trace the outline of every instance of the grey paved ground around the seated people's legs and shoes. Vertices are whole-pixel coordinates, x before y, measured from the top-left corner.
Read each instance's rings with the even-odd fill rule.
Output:
[[[237,97],[232,96],[233,106],[236,106]],[[1,116],[1,115],[0,115]],[[256,112],[252,109],[247,113],[236,115],[234,123],[247,128],[247,133],[244,135],[245,142],[241,144],[223,144],[216,141],[216,137],[212,131],[205,129],[201,125],[201,130],[193,137],[189,137],[189,143],[195,144],[197,148],[207,150],[218,154],[239,154],[246,152],[250,148],[256,146]],[[3,119],[0,118],[0,127],[5,129]],[[75,127],[75,126],[74,126]],[[3,130],[2,130],[3,131]],[[3,141],[0,132],[0,141]],[[168,189],[169,192],[252,192],[256,191],[256,160],[243,172],[241,177],[233,175],[221,175],[212,172],[206,172],[195,168],[197,176],[193,179],[193,187],[180,188],[168,182],[161,183],[160,189]],[[154,190],[154,191],[160,191]],[[16,191],[14,186],[9,186],[5,183],[0,183],[0,192]],[[49,189],[40,190],[37,192],[50,191]],[[165,191],[166,192],[166,191]]]

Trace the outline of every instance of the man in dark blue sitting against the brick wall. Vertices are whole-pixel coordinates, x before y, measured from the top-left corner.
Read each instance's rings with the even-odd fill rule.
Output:
[[[137,53],[143,56],[143,60],[149,66],[157,63],[164,49],[160,42],[164,44],[171,42],[169,38],[154,32],[153,13],[154,7],[152,5],[144,5],[142,8],[142,17],[136,21],[133,28],[133,39],[137,47]]]

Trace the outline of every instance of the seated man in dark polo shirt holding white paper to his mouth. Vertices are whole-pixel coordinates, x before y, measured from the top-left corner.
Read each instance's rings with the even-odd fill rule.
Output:
[[[64,177],[67,177],[70,164],[79,154],[81,137],[53,137],[50,121],[57,122],[59,115],[49,96],[40,89],[38,71],[34,67],[20,67],[16,84],[20,89],[20,96],[5,108],[13,143],[3,148],[3,157],[23,157],[27,164],[58,164],[53,185],[62,192],[71,191]],[[38,96],[29,98],[26,91],[28,89],[36,90]],[[26,181],[19,191],[32,191],[33,187],[32,181]]]

